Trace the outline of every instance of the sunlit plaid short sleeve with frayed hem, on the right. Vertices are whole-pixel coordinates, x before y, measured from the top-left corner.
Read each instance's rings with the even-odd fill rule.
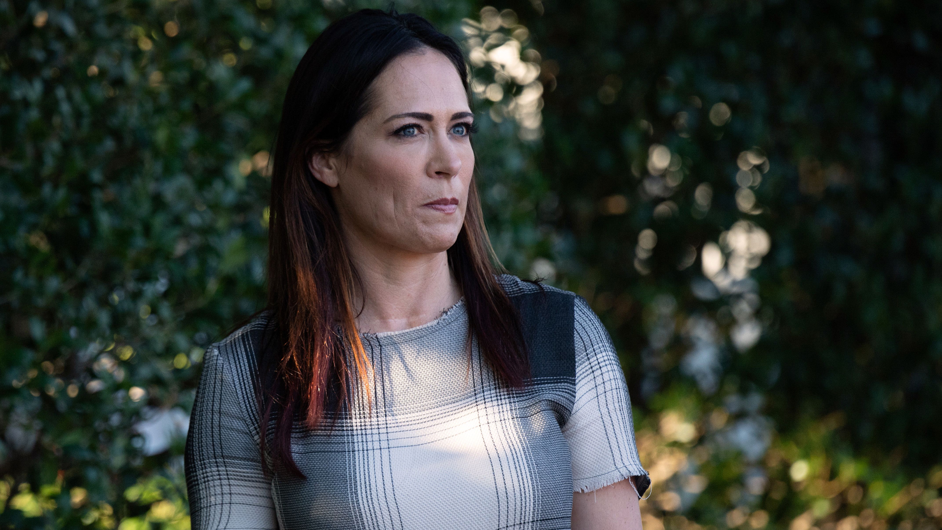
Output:
[[[642,494],[651,480],[638,457],[625,373],[592,308],[581,296],[575,304],[576,402],[562,428],[572,455],[573,489],[593,491],[637,477]]]

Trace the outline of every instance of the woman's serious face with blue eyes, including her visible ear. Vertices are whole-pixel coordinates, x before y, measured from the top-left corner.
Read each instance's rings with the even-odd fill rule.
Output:
[[[474,170],[474,116],[461,78],[424,49],[392,60],[372,84],[373,108],[337,157],[312,160],[357,243],[409,254],[444,252],[464,222]]]

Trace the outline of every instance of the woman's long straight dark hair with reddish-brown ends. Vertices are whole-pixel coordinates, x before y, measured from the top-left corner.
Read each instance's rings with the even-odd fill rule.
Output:
[[[356,271],[341,237],[327,186],[308,169],[317,152],[342,149],[353,125],[371,109],[370,85],[394,58],[429,48],[454,64],[468,92],[468,69],[457,42],[409,13],[362,9],[328,26],[311,44],[284,96],[275,142],[268,224],[268,329],[259,347],[260,439],[263,462],[304,476],[291,455],[295,421],[316,428],[336,420],[355,388],[369,399],[369,360],[352,306]],[[468,105],[471,98],[468,97]],[[529,375],[520,318],[496,275],[472,179],[463,228],[447,251],[464,296],[471,335],[498,382],[521,388]],[[333,403],[333,407],[331,404]]]

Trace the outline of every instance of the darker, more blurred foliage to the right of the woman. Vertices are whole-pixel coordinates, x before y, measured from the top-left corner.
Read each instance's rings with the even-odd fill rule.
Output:
[[[544,59],[544,223],[664,462],[646,521],[942,525],[939,6],[538,5],[506,7]]]

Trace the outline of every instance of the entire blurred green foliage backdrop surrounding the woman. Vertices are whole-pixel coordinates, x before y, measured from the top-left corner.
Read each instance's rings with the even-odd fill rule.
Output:
[[[0,0],[0,524],[188,527],[284,88],[361,7]],[[398,8],[466,46],[498,255],[609,325],[647,530],[942,526],[936,6]]]

